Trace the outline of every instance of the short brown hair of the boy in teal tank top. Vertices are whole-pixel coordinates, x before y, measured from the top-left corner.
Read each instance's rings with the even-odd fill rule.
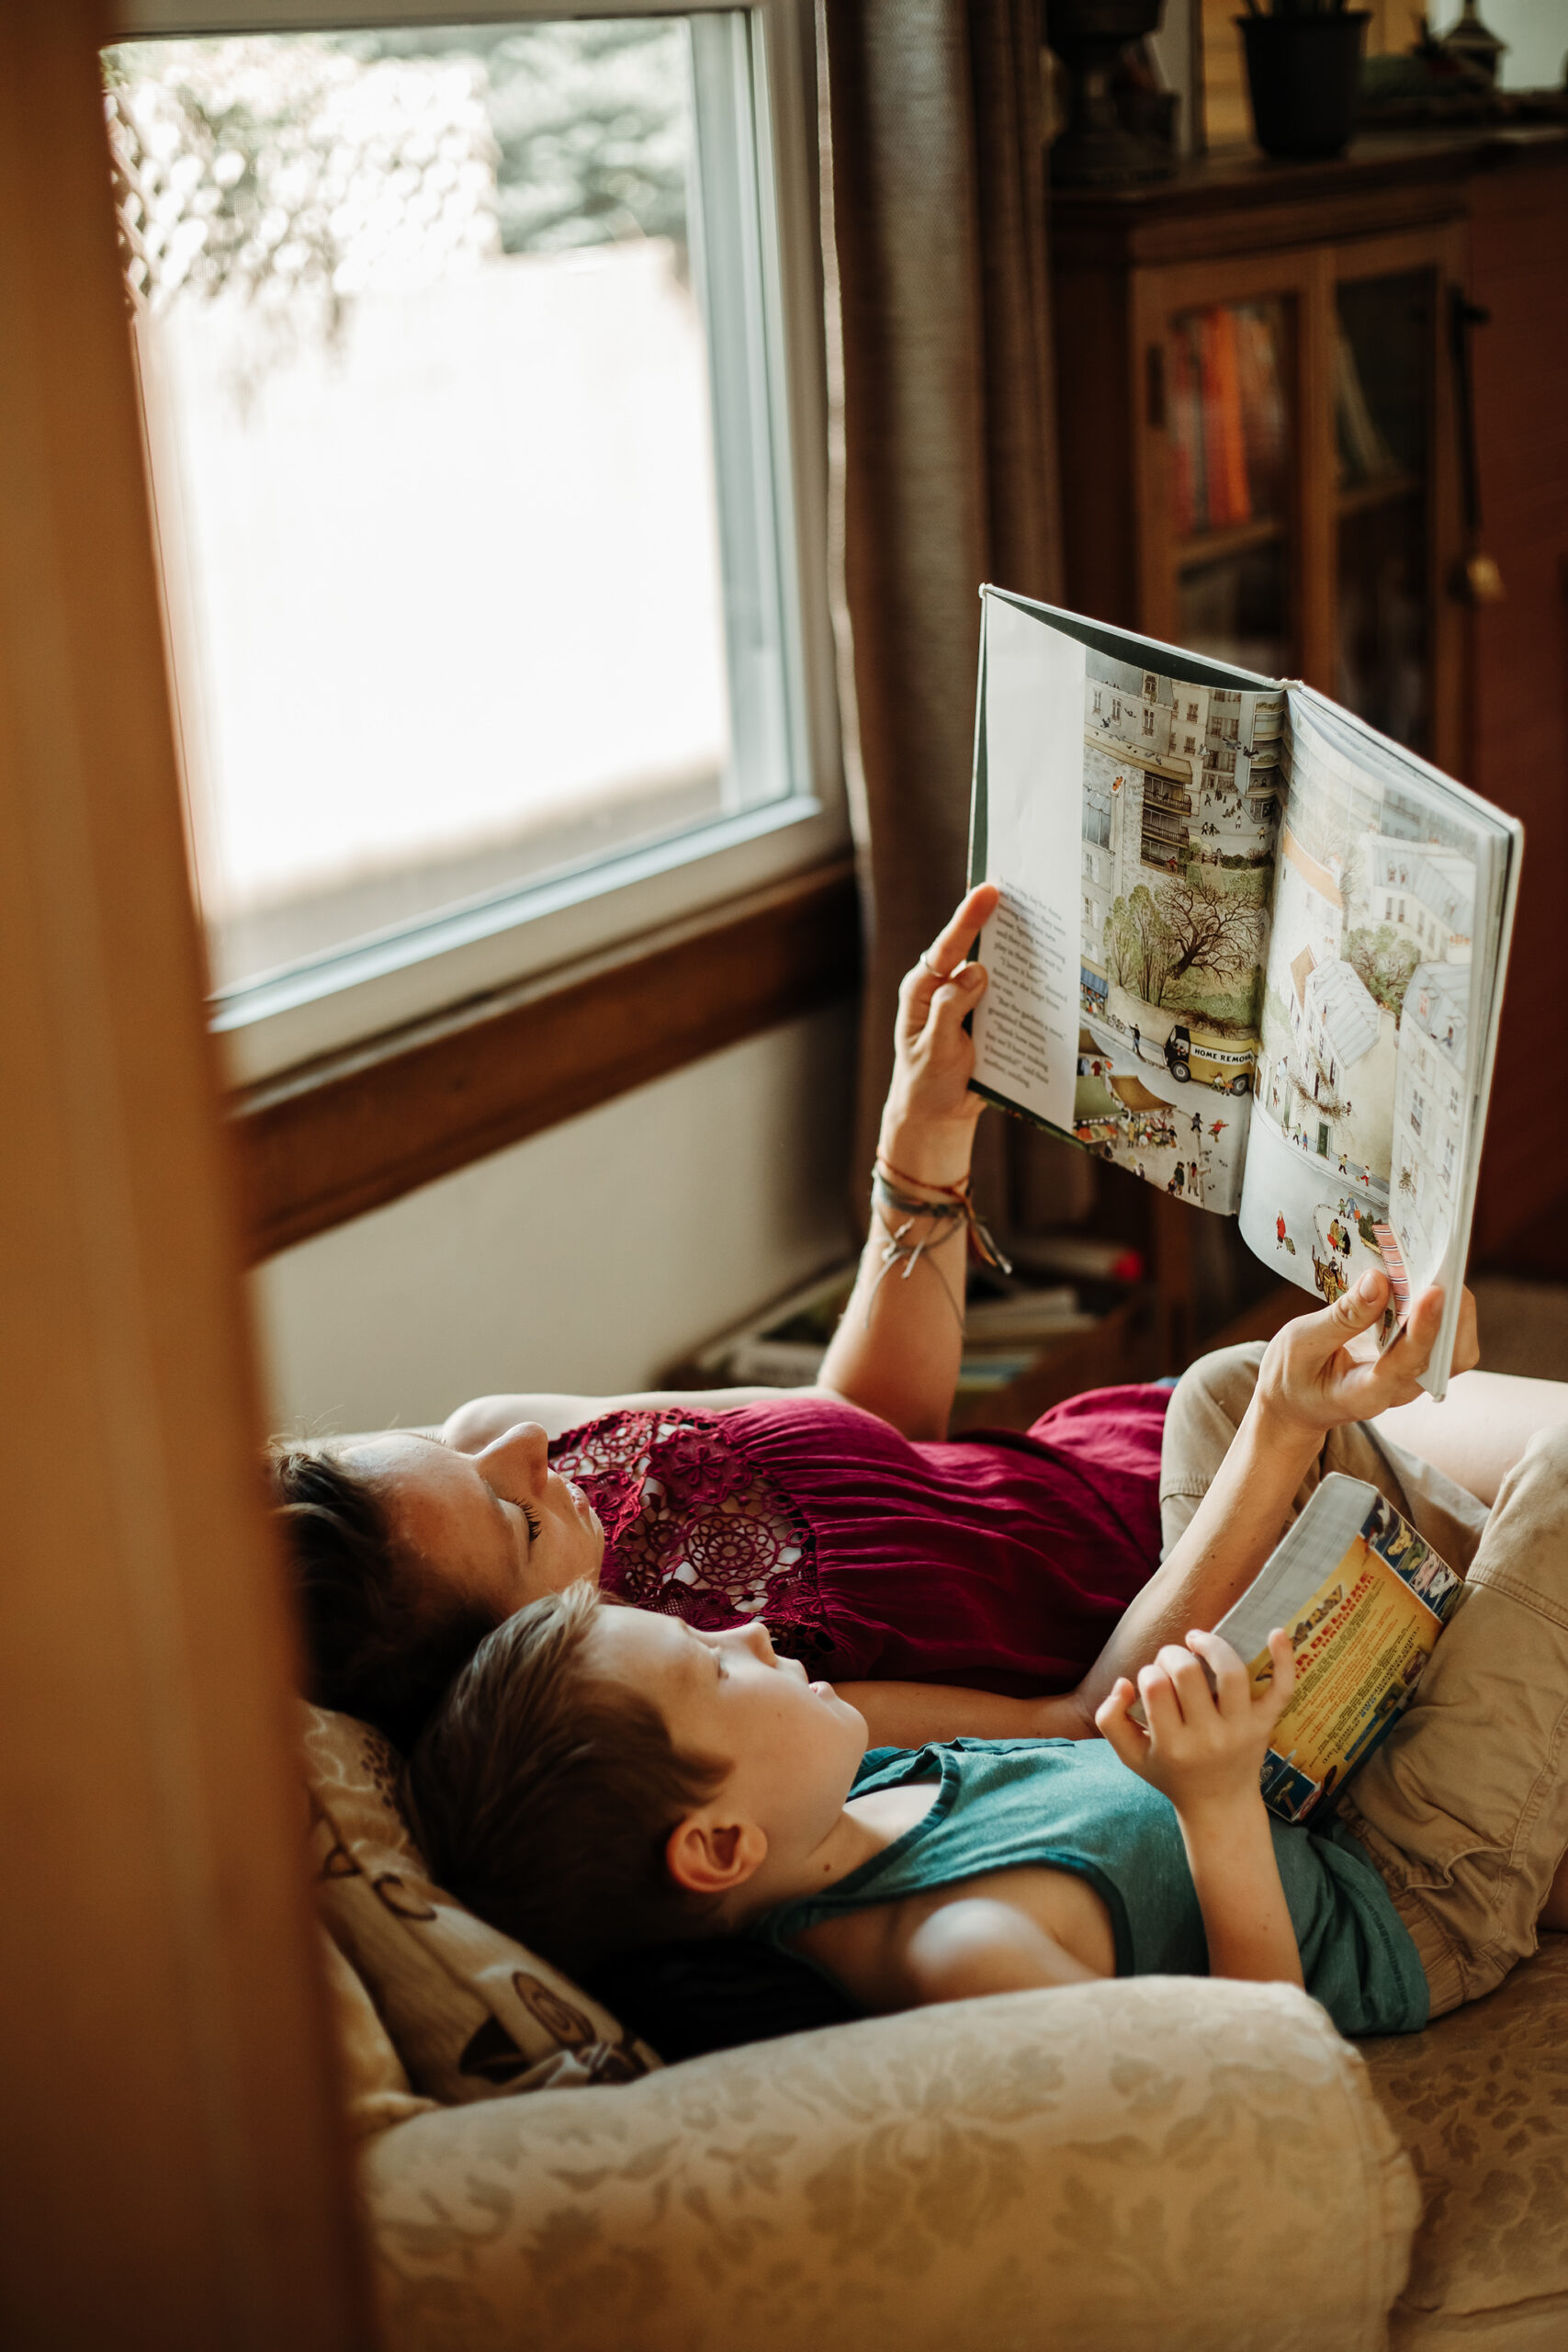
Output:
[[[597,1606],[578,1583],[498,1625],[404,1773],[437,1884],[574,1973],[712,1926],[715,1900],[677,1886],[665,1842],[729,1771],[682,1755],[651,1698],[595,1675]]]

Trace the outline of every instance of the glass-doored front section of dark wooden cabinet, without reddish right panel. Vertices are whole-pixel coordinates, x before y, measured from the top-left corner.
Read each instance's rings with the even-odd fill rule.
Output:
[[[1067,597],[1458,767],[1465,181],[1347,169],[1056,198]]]

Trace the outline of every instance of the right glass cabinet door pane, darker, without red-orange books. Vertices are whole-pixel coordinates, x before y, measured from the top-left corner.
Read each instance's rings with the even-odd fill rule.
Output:
[[[1434,325],[1434,270],[1335,287],[1335,696],[1422,753],[1432,748]]]

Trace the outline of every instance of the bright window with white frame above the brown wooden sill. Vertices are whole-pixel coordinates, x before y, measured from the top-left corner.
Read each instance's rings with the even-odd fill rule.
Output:
[[[106,52],[242,1075],[844,840],[797,7]]]

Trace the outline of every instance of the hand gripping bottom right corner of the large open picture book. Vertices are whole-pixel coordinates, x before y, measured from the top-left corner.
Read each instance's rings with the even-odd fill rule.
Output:
[[[1331,1308],[1298,1315],[1276,1331],[1258,1371],[1258,1411],[1291,1435],[1321,1439],[1342,1421],[1373,1421],[1392,1404],[1410,1404],[1443,1322],[1443,1294],[1422,1291],[1399,1338],[1382,1355],[1368,1355],[1387,1298],[1387,1275],[1368,1270]],[[1476,1303],[1465,1291],[1453,1369],[1469,1371],[1476,1362]]]

